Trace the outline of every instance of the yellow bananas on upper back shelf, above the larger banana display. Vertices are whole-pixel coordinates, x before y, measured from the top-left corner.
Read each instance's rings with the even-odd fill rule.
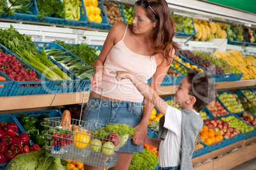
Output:
[[[225,23],[215,23],[208,22],[206,20],[199,20],[197,18],[193,18],[194,27],[196,29],[196,37],[195,41],[208,41],[211,38],[222,38],[225,39],[227,37],[227,33],[225,29],[227,24]]]

